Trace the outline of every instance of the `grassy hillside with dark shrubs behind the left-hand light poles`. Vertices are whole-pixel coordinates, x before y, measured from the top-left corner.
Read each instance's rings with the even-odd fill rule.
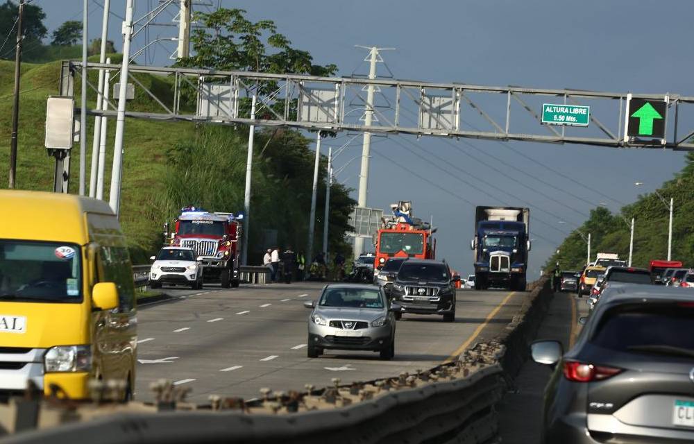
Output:
[[[112,55],[112,62],[120,61]],[[95,60],[91,58],[90,60]],[[0,187],[8,186],[12,84],[14,63],[0,60]],[[22,64],[19,112],[19,146],[17,151],[17,187],[51,191],[53,157],[44,148],[46,98],[58,94],[60,62],[44,65]],[[137,79],[171,106],[173,89],[169,78],[138,74]],[[96,71],[90,74],[96,85]],[[75,90],[80,89],[76,76]],[[96,94],[88,96],[94,108]],[[79,106],[77,104],[77,106]],[[161,111],[144,90],[135,87],[135,100],[129,110]],[[92,151],[94,119],[87,119],[87,186]],[[104,196],[108,198],[115,120],[108,124],[107,162]],[[124,173],[121,192],[121,225],[128,234],[135,262],[144,262],[162,241],[162,223],[183,205],[203,205],[210,210],[238,212],[243,207],[247,128],[214,128],[188,122],[158,122],[126,119]],[[307,206],[310,205],[312,152],[309,141],[294,131],[260,132],[256,144],[253,177],[253,216],[256,218],[252,239],[260,241],[262,229],[276,229],[284,245],[303,246],[307,237]],[[262,154],[262,157],[261,157]],[[79,144],[71,151],[71,193],[78,191]],[[324,173],[321,173],[321,177]],[[296,191],[298,190],[298,192]],[[324,193],[324,187],[321,193]],[[331,243],[344,247],[342,241],[350,207],[355,203],[340,185],[332,190],[336,208],[331,220]],[[323,200],[319,196],[319,203]],[[281,216],[278,216],[280,214]],[[323,214],[319,206],[318,214]],[[285,220],[285,219],[288,219]],[[260,223],[262,222],[262,223]],[[317,223],[322,228],[322,223]],[[316,239],[321,239],[320,232]],[[320,246],[320,242],[318,242]],[[258,252],[253,252],[257,253]]]

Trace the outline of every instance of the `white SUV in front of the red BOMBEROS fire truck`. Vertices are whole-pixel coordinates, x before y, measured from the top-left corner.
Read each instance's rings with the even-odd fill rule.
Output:
[[[189,285],[196,290],[203,288],[203,264],[191,248],[164,247],[154,261],[149,273],[149,286],[153,289],[162,284]]]

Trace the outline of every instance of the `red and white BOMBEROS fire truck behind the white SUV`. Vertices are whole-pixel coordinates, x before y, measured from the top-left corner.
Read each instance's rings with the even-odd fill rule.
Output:
[[[169,244],[192,248],[203,264],[203,281],[219,281],[225,288],[239,286],[242,214],[213,213],[196,207],[181,209],[174,230],[164,224]]]

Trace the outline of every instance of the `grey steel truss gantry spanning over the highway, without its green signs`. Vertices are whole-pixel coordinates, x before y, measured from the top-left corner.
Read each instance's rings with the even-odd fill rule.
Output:
[[[118,72],[120,65],[87,64],[87,70],[104,68]],[[63,62],[63,73],[69,76],[63,78],[61,93],[72,91],[66,82],[71,84],[74,75],[81,75],[81,71],[80,62]],[[153,92],[142,82],[143,74],[167,78],[173,85],[171,91],[166,96]],[[128,81],[142,89],[161,109],[142,112],[126,108],[126,117],[136,119],[284,126],[332,133],[357,131],[613,147],[694,148],[694,96],[137,65],[130,65],[128,76]],[[362,118],[369,85],[375,87],[377,99],[371,110],[373,123],[365,126]],[[96,92],[94,85],[89,87]],[[249,104],[254,94],[259,105],[255,119],[251,119]],[[666,139],[625,137],[629,97],[668,103]],[[589,127],[541,123],[541,107],[548,102],[590,105]],[[109,101],[108,110],[87,110],[87,113],[115,117],[116,109],[116,104]]]

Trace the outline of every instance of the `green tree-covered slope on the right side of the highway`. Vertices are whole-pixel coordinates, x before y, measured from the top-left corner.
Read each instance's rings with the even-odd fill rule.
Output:
[[[675,178],[665,182],[659,194],[639,196],[636,202],[626,205],[620,214],[610,214],[604,207],[591,211],[591,217],[579,231],[591,233],[591,255],[595,253],[619,253],[629,257],[629,230],[632,217],[634,223],[634,256],[632,265],[648,267],[652,259],[667,259],[669,200],[674,198],[672,217],[672,259],[681,260],[687,266],[694,265],[694,153],[688,153],[686,164]],[[623,219],[626,219],[626,221]],[[579,269],[586,264],[586,242],[578,231],[572,232],[559,246],[559,254],[548,259],[545,268],[559,261],[564,269]]]

